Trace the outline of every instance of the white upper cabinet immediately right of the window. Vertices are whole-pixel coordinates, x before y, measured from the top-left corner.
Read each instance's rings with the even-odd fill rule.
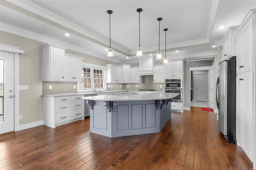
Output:
[[[122,83],[122,67],[112,64],[106,65],[106,82]]]

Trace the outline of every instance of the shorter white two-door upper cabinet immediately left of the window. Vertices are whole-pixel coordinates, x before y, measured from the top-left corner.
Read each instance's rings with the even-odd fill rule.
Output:
[[[64,81],[82,81],[82,57],[65,56]]]

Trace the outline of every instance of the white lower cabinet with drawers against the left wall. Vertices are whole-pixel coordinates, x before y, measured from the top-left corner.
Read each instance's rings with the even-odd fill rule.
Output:
[[[84,119],[84,95],[43,96],[44,125],[52,128]]]

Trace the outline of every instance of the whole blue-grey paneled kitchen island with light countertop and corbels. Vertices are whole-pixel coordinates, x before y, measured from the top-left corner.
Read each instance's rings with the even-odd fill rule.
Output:
[[[178,93],[83,97],[90,105],[90,132],[130,136],[160,132],[171,118],[171,100]]]

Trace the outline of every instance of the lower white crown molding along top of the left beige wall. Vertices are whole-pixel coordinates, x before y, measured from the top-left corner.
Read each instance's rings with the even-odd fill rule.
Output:
[[[102,59],[110,60],[105,55],[102,55],[100,53],[97,53],[95,51],[91,51],[91,50],[88,50],[88,49],[85,49],[85,48],[82,48],[82,47],[78,47],[76,45],[72,45],[70,43],[64,43],[64,42],[61,42],[61,41],[53,39],[53,38],[42,36],[40,34],[36,34],[34,32],[30,32],[28,30],[24,30],[24,29],[21,29],[21,28],[18,28],[18,27],[14,27],[14,26],[5,24],[3,22],[0,22],[0,25],[1,25],[0,30],[4,31],[4,32],[8,32],[8,33],[15,34],[15,35],[18,35],[18,36],[22,36],[22,37],[25,37],[25,38],[30,38],[32,40],[37,40],[37,41],[44,42],[44,43],[58,45],[58,46],[61,46],[61,47],[64,47],[64,48],[67,48],[67,49],[70,49],[70,50],[73,50],[73,51],[78,51],[78,52],[85,53],[85,54],[88,54],[88,55],[92,55],[92,56],[95,56],[95,57],[99,57],[99,58],[102,58]],[[117,63],[122,63],[122,60],[118,59],[117,57],[111,58],[110,61],[114,61],[114,62],[117,62]]]

